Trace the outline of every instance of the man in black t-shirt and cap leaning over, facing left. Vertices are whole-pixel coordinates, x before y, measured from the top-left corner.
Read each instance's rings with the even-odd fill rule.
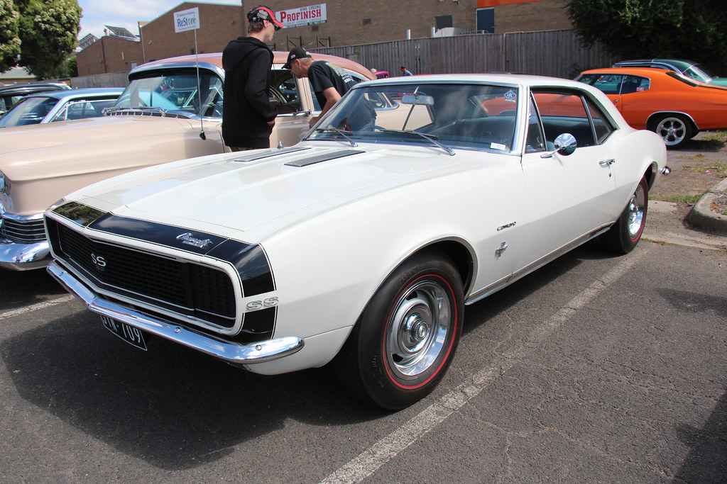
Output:
[[[290,69],[297,78],[307,77],[313,86],[313,93],[316,94],[318,104],[321,104],[321,115],[311,118],[311,128],[357,82],[342,67],[325,60],[314,61],[310,52],[302,47],[295,47],[290,51],[288,62],[283,67]]]

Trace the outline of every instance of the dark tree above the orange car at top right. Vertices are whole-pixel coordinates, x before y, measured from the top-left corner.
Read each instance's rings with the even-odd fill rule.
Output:
[[[571,0],[575,32],[622,59],[683,58],[727,67],[724,0]]]

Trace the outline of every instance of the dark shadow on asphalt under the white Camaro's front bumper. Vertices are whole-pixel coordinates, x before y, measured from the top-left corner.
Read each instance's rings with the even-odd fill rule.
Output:
[[[86,313],[12,337],[0,355],[25,401],[164,469],[222,459],[289,419],[339,426],[387,415],[327,369],[266,377],[161,338],[148,346],[132,348]]]

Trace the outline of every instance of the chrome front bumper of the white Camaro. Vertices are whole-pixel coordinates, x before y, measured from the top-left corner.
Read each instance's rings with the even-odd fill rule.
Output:
[[[236,366],[265,363],[266,361],[284,358],[297,353],[305,344],[301,338],[292,336],[249,344],[230,343],[190,331],[169,321],[157,319],[136,311],[127,305],[100,298],[56,262],[50,263],[47,271],[91,311],[143,329],[153,335],[175,341]]]

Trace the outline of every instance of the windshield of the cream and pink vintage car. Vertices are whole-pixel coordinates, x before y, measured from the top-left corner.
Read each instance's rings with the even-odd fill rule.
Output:
[[[161,110],[185,111],[190,115],[222,115],[222,81],[217,75],[200,72],[201,102],[197,95],[197,75],[158,74],[134,79],[126,86],[111,110],[158,107]],[[201,107],[200,107],[201,106]]]

